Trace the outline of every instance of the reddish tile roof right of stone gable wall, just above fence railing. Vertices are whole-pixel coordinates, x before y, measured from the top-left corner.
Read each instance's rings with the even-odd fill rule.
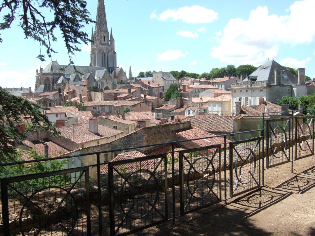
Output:
[[[189,130],[177,132],[177,134],[183,137],[184,139],[194,139],[194,138],[215,136],[212,133],[208,133],[198,128],[191,128]],[[224,143],[224,138],[222,137],[204,138],[204,139],[194,140],[191,142],[196,143],[199,147],[205,147],[209,145]],[[230,142],[230,141],[227,140],[227,142]],[[181,145],[181,144],[178,143],[178,145]]]

